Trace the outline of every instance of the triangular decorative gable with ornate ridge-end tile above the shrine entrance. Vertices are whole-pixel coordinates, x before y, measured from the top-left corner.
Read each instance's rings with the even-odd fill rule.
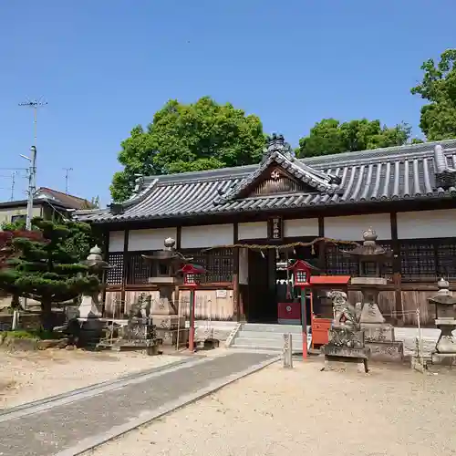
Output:
[[[269,140],[263,161],[256,171],[215,200],[216,204],[236,199],[287,193],[336,192],[340,179],[298,161],[283,136]]]

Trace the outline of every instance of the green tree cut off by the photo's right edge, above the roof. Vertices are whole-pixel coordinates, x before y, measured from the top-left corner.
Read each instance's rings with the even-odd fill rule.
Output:
[[[447,49],[436,65],[430,58],[421,66],[424,76],[411,88],[429,101],[421,107],[420,129],[428,140],[456,138],[456,49]]]

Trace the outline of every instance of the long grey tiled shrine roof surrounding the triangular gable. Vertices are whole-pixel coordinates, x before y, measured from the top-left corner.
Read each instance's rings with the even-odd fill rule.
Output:
[[[221,202],[223,196],[230,195],[242,181],[250,180],[261,166],[251,165],[144,178],[138,182],[137,193],[122,203],[121,212],[103,209],[75,214],[79,220],[109,223],[223,212],[456,197],[456,187],[451,184],[451,179],[449,185],[436,186],[436,182],[440,184],[442,181],[436,181],[436,161],[440,161],[439,176],[447,178],[449,174],[453,179],[451,169],[456,168],[456,140],[346,152],[297,161],[298,167],[304,165],[309,172],[340,178],[336,192],[228,198],[229,201]],[[441,166],[446,166],[446,169]]]

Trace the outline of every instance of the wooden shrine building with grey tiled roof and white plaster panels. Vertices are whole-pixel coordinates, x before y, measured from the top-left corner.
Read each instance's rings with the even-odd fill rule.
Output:
[[[130,200],[75,216],[106,236],[115,266],[107,274],[110,316],[154,294],[141,255],[171,237],[207,270],[197,318],[277,322],[277,304],[294,299],[290,260],[305,260],[319,275],[358,275],[343,251],[372,228],[392,251],[381,273],[381,311],[395,324],[416,325],[419,308],[431,324],[427,299],[437,280],[456,286],[456,140],[298,160],[273,136],[258,165],[140,178]],[[355,285],[348,297],[359,300]]]

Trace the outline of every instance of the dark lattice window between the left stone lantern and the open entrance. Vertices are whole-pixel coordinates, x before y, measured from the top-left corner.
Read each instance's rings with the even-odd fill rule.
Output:
[[[201,265],[207,270],[202,275],[201,282],[204,284],[233,282],[233,249],[212,250],[185,250],[186,256],[192,256],[193,263]]]

